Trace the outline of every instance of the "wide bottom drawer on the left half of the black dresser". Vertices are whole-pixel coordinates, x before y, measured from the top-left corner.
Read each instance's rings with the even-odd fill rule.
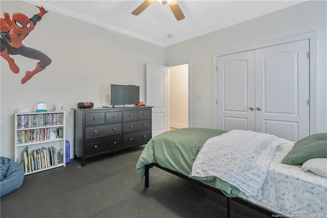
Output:
[[[98,155],[103,152],[123,147],[122,135],[85,140],[85,156]]]

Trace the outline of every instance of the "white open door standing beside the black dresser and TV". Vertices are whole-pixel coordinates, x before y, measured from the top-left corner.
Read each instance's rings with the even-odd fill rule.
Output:
[[[152,108],[152,137],[169,130],[168,67],[146,65],[146,104]]]

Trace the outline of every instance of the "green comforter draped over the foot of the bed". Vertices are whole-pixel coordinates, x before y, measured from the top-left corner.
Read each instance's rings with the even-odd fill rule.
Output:
[[[144,148],[136,164],[139,178],[144,178],[145,165],[157,163],[191,177],[193,162],[209,138],[226,133],[208,128],[182,128],[153,137]],[[220,189],[227,197],[237,197],[240,190],[216,177],[195,178],[204,184]]]

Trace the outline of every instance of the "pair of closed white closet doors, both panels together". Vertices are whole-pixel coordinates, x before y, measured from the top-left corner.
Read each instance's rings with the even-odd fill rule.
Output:
[[[218,128],[308,136],[308,53],[305,39],[218,57]]]

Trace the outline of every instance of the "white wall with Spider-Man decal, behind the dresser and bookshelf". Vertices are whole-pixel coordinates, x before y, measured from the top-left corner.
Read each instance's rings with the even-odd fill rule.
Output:
[[[1,1],[4,12],[29,17],[39,12],[35,5],[21,1]],[[1,59],[1,145],[0,155],[14,159],[14,113],[17,108],[34,110],[39,101],[62,102],[66,112],[66,139],[74,152],[74,114],[78,102],[91,101],[95,107],[110,105],[110,84],[140,86],[140,100],[145,96],[145,63],[164,64],[164,48],[116,33],[49,10],[23,41],[42,51],[52,63],[30,81],[21,84],[26,71],[37,61],[12,56],[20,68],[9,70]]]

